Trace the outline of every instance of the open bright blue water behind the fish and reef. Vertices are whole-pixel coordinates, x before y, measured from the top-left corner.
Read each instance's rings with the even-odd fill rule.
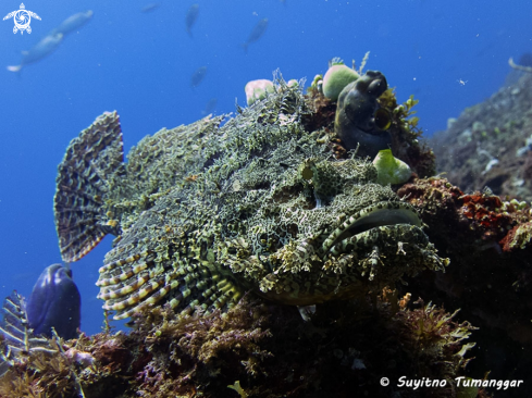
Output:
[[[277,0],[196,1],[200,11],[186,34],[194,1],[27,1],[30,35],[13,35],[0,21],[0,299],[17,289],[28,296],[40,272],[61,262],[53,224],[57,166],[70,140],[103,111],[117,110],[124,149],[161,127],[202,116],[211,98],[216,113],[245,105],[248,80],[286,79],[325,73],[327,61],[347,64],[371,55],[366,69],[380,70],[400,101],[420,100],[425,135],[444,129],[448,117],[484,100],[504,83],[508,59],[532,51],[528,0]],[[0,2],[0,16],[18,1]],[[92,10],[94,17],[59,49],[21,75],[21,50],[32,48],[67,16]],[[261,18],[263,37],[247,54],[240,45]],[[207,66],[201,84],[190,76]],[[462,82],[462,83],[460,83]],[[83,299],[82,329],[102,324],[96,299],[98,268],[111,238],[72,264]]]

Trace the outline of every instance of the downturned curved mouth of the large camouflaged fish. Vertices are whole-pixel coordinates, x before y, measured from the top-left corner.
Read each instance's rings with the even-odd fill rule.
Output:
[[[343,217],[341,217],[342,220]],[[382,226],[412,225],[421,227],[423,223],[416,210],[405,202],[378,202],[346,217],[323,241],[321,252],[339,254],[349,244],[356,244],[357,237]]]

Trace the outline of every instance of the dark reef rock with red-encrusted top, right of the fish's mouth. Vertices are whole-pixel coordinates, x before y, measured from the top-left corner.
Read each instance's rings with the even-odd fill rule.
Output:
[[[461,316],[479,326],[474,338],[482,348],[474,351],[472,372],[482,363],[490,377],[530,381],[530,208],[488,190],[465,195],[441,177],[406,184],[398,195],[420,210],[431,240],[450,258],[445,274],[408,279],[409,291],[461,308]]]

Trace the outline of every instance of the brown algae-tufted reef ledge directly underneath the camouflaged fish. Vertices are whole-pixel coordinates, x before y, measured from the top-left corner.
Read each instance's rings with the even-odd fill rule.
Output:
[[[451,397],[474,346],[465,343],[474,328],[453,318],[389,289],[319,306],[309,322],[249,297],[225,314],[157,307],[136,314],[128,334],[82,335],[27,357],[0,378],[0,397]],[[448,383],[382,387],[383,375]]]

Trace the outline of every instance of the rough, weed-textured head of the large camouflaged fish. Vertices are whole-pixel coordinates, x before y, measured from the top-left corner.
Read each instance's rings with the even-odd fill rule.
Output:
[[[376,183],[369,161],[305,158],[310,147],[304,138],[279,142],[230,176],[219,213],[221,264],[259,296],[296,306],[444,269],[448,261],[415,208]]]

